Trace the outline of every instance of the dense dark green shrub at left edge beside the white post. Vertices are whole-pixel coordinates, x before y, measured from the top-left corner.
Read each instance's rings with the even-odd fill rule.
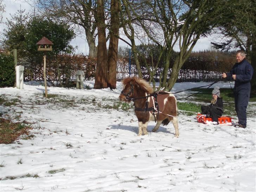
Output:
[[[14,58],[0,53],[0,87],[13,87],[15,83]]]

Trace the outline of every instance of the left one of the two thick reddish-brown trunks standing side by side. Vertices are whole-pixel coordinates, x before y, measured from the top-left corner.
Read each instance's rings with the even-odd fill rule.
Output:
[[[98,50],[94,89],[107,88],[107,45],[104,18],[104,0],[97,1]]]

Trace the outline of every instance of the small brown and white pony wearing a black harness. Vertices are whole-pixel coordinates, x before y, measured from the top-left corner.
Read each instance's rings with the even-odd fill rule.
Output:
[[[128,103],[134,101],[135,114],[139,121],[138,136],[141,136],[142,132],[146,135],[148,122],[155,120],[157,123],[153,132],[158,130],[161,123],[167,125],[171,121],[175,129],[175,137],[179,137],[177,101],[173,94],[164,91],[154,94],[152,87],[138,77],[127,77],[122,83],[124,87],[119,99]]]

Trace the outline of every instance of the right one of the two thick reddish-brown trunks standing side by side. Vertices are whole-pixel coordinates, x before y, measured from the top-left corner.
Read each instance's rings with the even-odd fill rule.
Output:
[[[110,39],[108,48],[108,87],[116,89],[116,62],[119,40],[119,0],[111,0]]]

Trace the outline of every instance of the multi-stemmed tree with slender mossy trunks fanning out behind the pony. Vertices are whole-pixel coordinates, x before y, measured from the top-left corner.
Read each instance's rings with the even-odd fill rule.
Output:
[[[140,63],[136,59],[137,51],[134,34],[135,26],[139,26],[152,43],[161,47],[159,59],[164,58],[164,71],[160,76],[160,88],[171,90],[178,78],[178,73],[186,59],[190,56],[198,39],[212,24],[212,7],[214,1],[209,0],[122,0],[125,17],[121,15],[122,27],[132,44],[136,67],[141,76]],[[173,47],[178,43],[179,54],[175,57],[171,76],[168,75]],[[158,60],[159,63],[159,60]],[[151,70],[153,78],[156,68]]]

